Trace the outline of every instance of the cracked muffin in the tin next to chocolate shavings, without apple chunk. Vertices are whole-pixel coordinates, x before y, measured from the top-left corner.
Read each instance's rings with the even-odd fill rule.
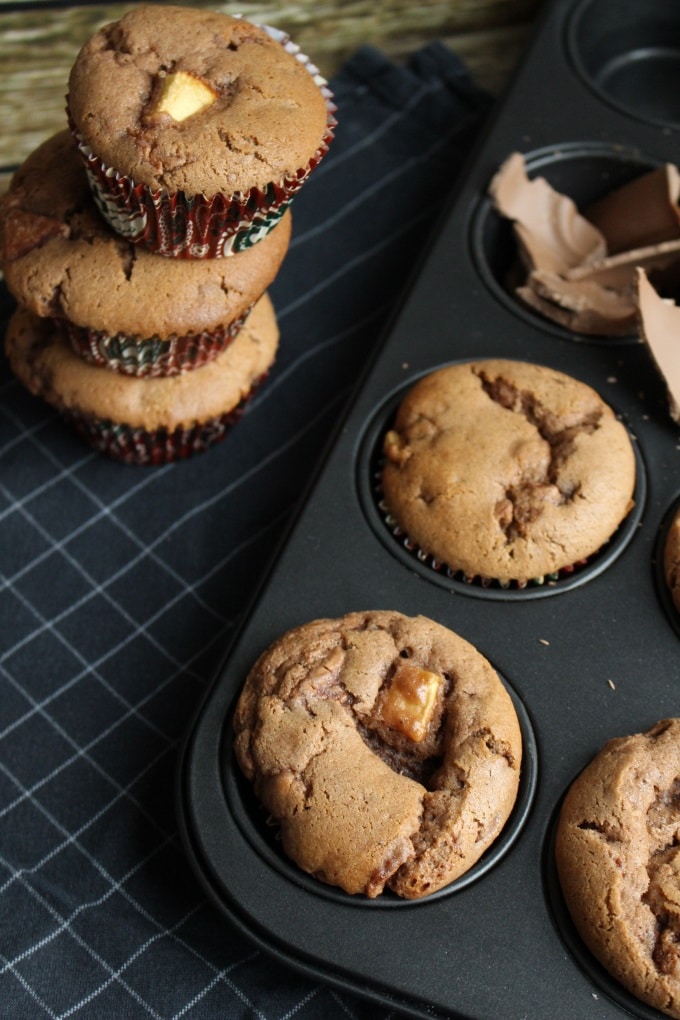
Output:
[[[592,556],[633,506],[628,432],[585,384],[520,361],[421,378],[384,436],[383,502],[425,556],[524,585]]]

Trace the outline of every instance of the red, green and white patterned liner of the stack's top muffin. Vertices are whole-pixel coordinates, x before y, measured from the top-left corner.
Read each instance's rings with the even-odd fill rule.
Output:
[[[121,237],[150,251],[174,258],[219,258],[252,247],[266,237],[328,151],[336,107],[326,80],[285,33],[262,27],[309,70],[326,104],[326,130],[306,166],[292,176],[231,195],[169,194],[136,185],[107,166],[88,146],[70,115],[68,121],[84,160],[90,187],[102,215]]]

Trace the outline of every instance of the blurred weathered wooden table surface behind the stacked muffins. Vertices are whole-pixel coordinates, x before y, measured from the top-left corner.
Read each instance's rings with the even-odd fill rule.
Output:
[[[402,60],[429,40],[440,39],[493,94],[512,72],[539,5],[539,0],[184,2],[284,30],[326,78],[364,43]],[[0,190],[13,166],[64,126],[66,82],[80,46],[130,6],[0,0]]]

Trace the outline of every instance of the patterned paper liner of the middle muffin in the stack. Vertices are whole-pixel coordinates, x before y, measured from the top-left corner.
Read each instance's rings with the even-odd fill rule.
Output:
[[[243,315],[223,328],[185,336],[137,339],[126,334],[109,335],[60,320],[58,325],[70,346],[86,361],[110,368],[121,375],[157,377],[179,375],[212,361],[238,336],[248,317]]]

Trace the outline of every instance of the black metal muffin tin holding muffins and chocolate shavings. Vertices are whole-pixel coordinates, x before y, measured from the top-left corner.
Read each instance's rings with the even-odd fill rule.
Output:
[[[659,1017],[590,958],[561,900],[552,839],[571,781],[613,736],[680,714],[680,628],[663,582],[680,436],[638,338],[570,334],[505,289],[512,233],[486,198],[513,151],[581,206],[680,159],[680,3],[556,0],[459,182],[440,230],[188,733],[180,827],[209,896],[304,973],[422,1017]],[[453,182],[452,182],[453,187]],[[453,361],[505,357],[592,386],[629,428],[635,510],[578,571],[483,589],[414,558],[380,512],[380,437],[401,396]],[[522,787],[464,879],[406,903],[349,897],[281,855],[231,753],[230,713],[258,655],[292,626],[354,610],[438,620],[494,665],[518,708]]]

